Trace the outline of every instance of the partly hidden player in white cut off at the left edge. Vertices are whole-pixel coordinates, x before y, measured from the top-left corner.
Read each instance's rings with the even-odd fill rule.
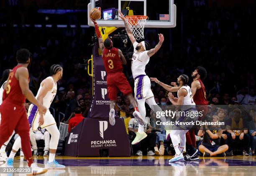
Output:
[[[8,79],[9,77],[9,73],[10,73],[10,69],[6,69],[4,72],[3,72],[3,76],[2,76],[2,79],[0,81],[0,106],[3,102],[3,92],[4,92],[4,88],[6,86],[6,80]],[[0,114],[0,122],[1,122],[1,114]],[[14,131],[13,131],[13,134],[14,134]],[[6,161],[7,159],[7,155],[5,153],[5,149],[6,149],[6,145],[8,145],[9,141],[11,140],[11,138],[13,137],[13,134],[10,135],[9,139],[1,146],[1,149],[0,149],[0,161]]]

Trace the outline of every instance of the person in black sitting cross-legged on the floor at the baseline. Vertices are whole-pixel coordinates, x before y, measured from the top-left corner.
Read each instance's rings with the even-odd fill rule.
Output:
[[[212,122],[217,122],[219,117],[214,115]],[[203,157],[209,156],[225,156],[225,151],[228,150],[228,145],[220,145],[220,138],[222,130],[218,125],[212,125],[209,129],[207,125],[202,126],[197,133],[198,136],[203,136],[202,144],[199,145],[198,150]]]

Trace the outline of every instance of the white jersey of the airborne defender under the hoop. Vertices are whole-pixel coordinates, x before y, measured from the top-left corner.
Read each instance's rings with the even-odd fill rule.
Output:
[[[133,58],[132,58],[132,64],[131,64],[133,79],[135,79],[139,75],[146,75],[145,69],[146,69],[146,65],[149,62],[148,51],[142,51],[138,53],[137,50],[135,49],[137,45],[138,45],[138,42],[133,43],[134,52],[133,52]]]

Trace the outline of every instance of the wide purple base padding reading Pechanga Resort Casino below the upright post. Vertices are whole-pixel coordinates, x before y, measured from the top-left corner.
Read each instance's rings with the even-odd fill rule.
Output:
[[[65,155],[98,157],[100,149],[108,149],[108,154],[112,157],[131,156],[129,138],[122,118],[117,118],[114,126],[110,125],[108,119],[85,118],[70,131]]]

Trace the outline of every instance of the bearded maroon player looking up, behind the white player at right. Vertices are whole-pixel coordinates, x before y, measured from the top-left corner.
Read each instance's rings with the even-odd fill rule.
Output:
[[[204,67],[198,66],[195,71],[192,72],[191,77],[193,78],[193,82],[191,84],[191,92],[193,95],[193,100],[197,105],[197,111],[202,112],[202,116],[198,118],[198,120],[202,120],[203,117],[207,114],[207,105],[208,101],[206,99],[205,85],[202,80],[204,80],[207,76],[207,71]],[[184,157],[185,160],[198,160],[197,154],[195,153],[196,149],[196,140],[195,140],[195,130],[191,129],[186,133],[186,141],[187,141],[187,155]]]

